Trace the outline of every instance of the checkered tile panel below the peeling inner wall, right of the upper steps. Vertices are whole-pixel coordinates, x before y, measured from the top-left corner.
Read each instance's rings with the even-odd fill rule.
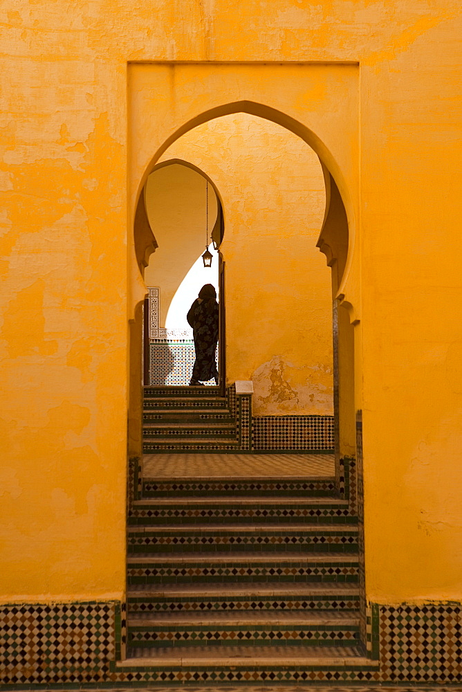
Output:
[[[333,416],[254,416],[253,450],[333,450]]]

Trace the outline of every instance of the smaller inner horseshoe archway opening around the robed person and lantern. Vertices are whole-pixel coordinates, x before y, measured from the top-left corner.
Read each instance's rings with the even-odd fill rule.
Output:
[[[220,257],[214,247],[223,237],[221,203],[203,173],[180,159],[167,159],[156,167],[144,197],[158,243],[145,268],[145,385],[187,386],[195,360],[187,313],[204,284],[214,286],[221,302]],[[212,255],[210,266],[204,266],[202,258],[206,247]],[[218,356],[216,352],[217,361]]]

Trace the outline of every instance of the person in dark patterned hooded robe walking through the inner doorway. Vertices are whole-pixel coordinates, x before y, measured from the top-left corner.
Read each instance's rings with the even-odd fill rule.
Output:
[[[193,330],[196,352],[190,385],[201,385],[212,377],[218,385],[215,352],[218,343],[219,311],[216,291],[212,284],[202,286],[186,319]]]

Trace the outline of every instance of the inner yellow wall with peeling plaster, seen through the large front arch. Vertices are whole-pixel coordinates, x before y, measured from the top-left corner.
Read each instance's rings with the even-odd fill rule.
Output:
[[[200,167],[222,197],[228,382],[253,380],[254,415],[332,414],[331,272],[316,248],[325,191],[313,149],[235,113],[187,132],[160,161],[169,158]]]

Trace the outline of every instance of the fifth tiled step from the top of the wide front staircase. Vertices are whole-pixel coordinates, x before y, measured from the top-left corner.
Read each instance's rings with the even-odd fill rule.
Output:
[[[132,584],[127,592],[129,613],[266,612],[280,610],[357,612],[355,583]]]

